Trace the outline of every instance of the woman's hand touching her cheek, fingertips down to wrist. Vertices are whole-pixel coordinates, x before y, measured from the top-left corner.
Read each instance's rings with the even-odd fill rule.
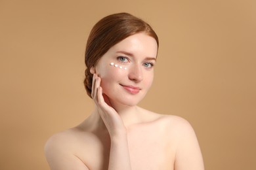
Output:
[[[91,96],[95,101],[98,113],[100,114],[100,117],[108,129],[108,133],[110,134],[111,138],[118,135],[126,135],[127,131],[123,124],[123,120],[121,120],[119,114],[111,106],[108,96],[102,93],[100,82],[101,78],[94,74]]]

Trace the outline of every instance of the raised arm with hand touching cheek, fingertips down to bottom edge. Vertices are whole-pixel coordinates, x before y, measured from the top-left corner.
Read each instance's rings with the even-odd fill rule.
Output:
[[[93,76],[92,97],[98,109],[108,133],[110,134],[110,160],[109,170],[131,170],[131,161],[127,141],[127,129],[121,117],[114,108],[111,107],[108,97],[102,94],[100,87],[100,77]],[[108,104],[107,104],[107,103]]]

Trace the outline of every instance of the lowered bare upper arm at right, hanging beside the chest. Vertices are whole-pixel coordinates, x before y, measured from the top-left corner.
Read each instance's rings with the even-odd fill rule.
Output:
[[[203,170],[203,158],[194,129],[186,120],[179,123],[175,170]]]

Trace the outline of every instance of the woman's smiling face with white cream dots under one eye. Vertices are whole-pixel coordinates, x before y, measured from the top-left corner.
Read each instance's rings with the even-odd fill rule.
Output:
[[[100,76],[103,93],[112,103],[137,105],[152,85],[157,52],[153,37],[137,33],[112,46],[91,73]]]

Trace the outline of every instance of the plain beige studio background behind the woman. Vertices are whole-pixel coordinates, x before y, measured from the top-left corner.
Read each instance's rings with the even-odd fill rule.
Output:
[[[83,54],[103,16],[131,12],[160,38],[140,106],[186,118],[205,169],[256,169],[256,1],[0,1],[0,169],[49,169],[53,134],[93,109]]]

